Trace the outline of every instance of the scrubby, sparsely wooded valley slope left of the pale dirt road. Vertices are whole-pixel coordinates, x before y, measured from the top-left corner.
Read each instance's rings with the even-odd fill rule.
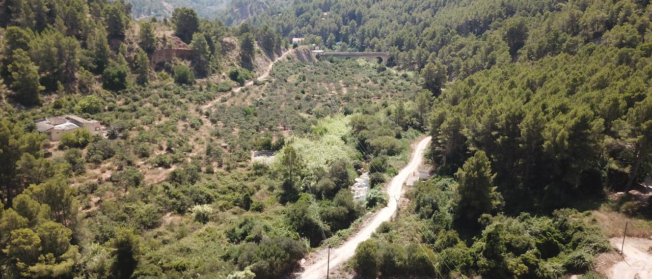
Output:
[[[20,3],[0,3],[2,278],[278,278],[383,207],[425,127],[415,74],[317,61],[266,26]],[[100,130],[38,132],[60,115]],[[355,200],[371,156],[383,169]]]

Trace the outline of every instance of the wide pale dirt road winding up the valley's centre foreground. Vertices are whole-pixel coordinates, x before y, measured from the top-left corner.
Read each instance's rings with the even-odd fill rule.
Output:
[[[389,186],[387,186],[387,194],[389,194],[389,202],[387,207],[381,209],[376,213],[376,216],[365,224],[351,239],[344,242],[342,246],[338,248],[331,248],[331,264],[330,270],[333,271],[338,265],[344,263],[350,257],[353,257],[355,254],[355,248],[360,244],[360,242],[365,241],[371,234],[376,231],[376,228],[380,226],[382,222],[389,221],[391,217],[396,213],[396,201],[402,195],[403,183],[408,179],[409,175],[419,168],[423,158],[423,151],[428,146],[430,142],[430,137],[424,138],[415,147],[412,158],[405,168],[396,175]],[[303,268],[303,272],[299,275],[303,279],[321,279],[326,276],[326,266],[327,258],[324,250],[315,252],[318,254],[318,259],[312,263],[307,263]]]

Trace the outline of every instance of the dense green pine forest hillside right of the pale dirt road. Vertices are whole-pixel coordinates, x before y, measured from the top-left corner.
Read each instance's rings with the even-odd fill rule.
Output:
[[[436,178],[408,194],[408,228],[379,229],[353,271],[556,278],[610,250],[589,213],[565,207],[650,226],[652,199],[629,190],[652,168],[651,17],[647,1],[297,1],[250,22],[391,51],[436,97]]]

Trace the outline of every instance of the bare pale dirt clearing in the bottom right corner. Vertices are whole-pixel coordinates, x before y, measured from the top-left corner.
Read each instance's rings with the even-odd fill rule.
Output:
[[[620,250],[623,244],[621,237],[612,237],[609,240],[615,248]],[[652,278],[652,239],[639,239],[627,237],[623,248],[624,261],[615,263],[607,276],[611,279],[646,279]]]

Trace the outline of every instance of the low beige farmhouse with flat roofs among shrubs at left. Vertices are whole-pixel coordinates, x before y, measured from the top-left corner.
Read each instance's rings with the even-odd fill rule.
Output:
[[[51,141],[59,141],[63,134],[74,132],[79,128],[85,128],[89,132],[100,130],[100,123],[96,120],[86,120],[76,115],[61,115],[37,119],[34,121],[37,125],[38,132],[48,135]]]

